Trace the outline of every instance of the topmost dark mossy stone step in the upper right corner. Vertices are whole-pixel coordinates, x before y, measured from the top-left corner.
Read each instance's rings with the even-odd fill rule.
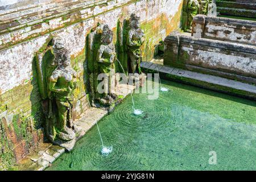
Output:
[[[217,1],[217,7],[229,7],[234,9],[256,10],[256,3]]]

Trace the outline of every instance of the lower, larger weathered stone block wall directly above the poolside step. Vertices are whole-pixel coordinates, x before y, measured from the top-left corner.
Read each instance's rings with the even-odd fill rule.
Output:
[[[164,40],[164,65],[256,83],[255,46],[171,34]]]

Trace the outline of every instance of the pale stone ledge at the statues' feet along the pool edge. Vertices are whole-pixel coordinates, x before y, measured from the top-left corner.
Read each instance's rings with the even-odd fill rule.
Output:
[[[119,84],[115,88],[115,94],[119,96],[116,105],[119,104],[128,94],[135,89],[133,85]],[[121,97],[120,97],[121,96]],[[77,140],[86,134],[101,118],[108,115],[108,111],[89,107],[82,118],[75,121]],[[32,151],[26,158],[19,161],[15,169],[26,171],[43,171],[65,152],[63,147],[55,146],[52,143],[40,143],[39,147]]]

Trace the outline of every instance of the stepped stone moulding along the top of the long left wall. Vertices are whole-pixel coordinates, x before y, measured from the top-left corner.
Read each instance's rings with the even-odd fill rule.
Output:
[[[60,12],[58,12],[54,10],[52,13],[46,13],[44,16],[36,13],[34,16],[28,18],[2,22],[0,23],[0,50],[66,26],[71,26],[72,24],[107,13],[133,2],[133,0],[99,0],[81,7],[75,6],[73,9],[72,6],[65,7],[65,11],[60,10]]]

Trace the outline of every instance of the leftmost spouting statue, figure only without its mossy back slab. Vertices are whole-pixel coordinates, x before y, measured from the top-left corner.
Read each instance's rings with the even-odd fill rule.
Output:
[[[71,67],[70,52],[58,39],[54,40],[53,52],[57,67],[49,77],[49,94],[52,94],[57,106],[55,130],[57,138],[69,142],[76,136],[72,130],[72,92],[76,87],[77,73]]]

